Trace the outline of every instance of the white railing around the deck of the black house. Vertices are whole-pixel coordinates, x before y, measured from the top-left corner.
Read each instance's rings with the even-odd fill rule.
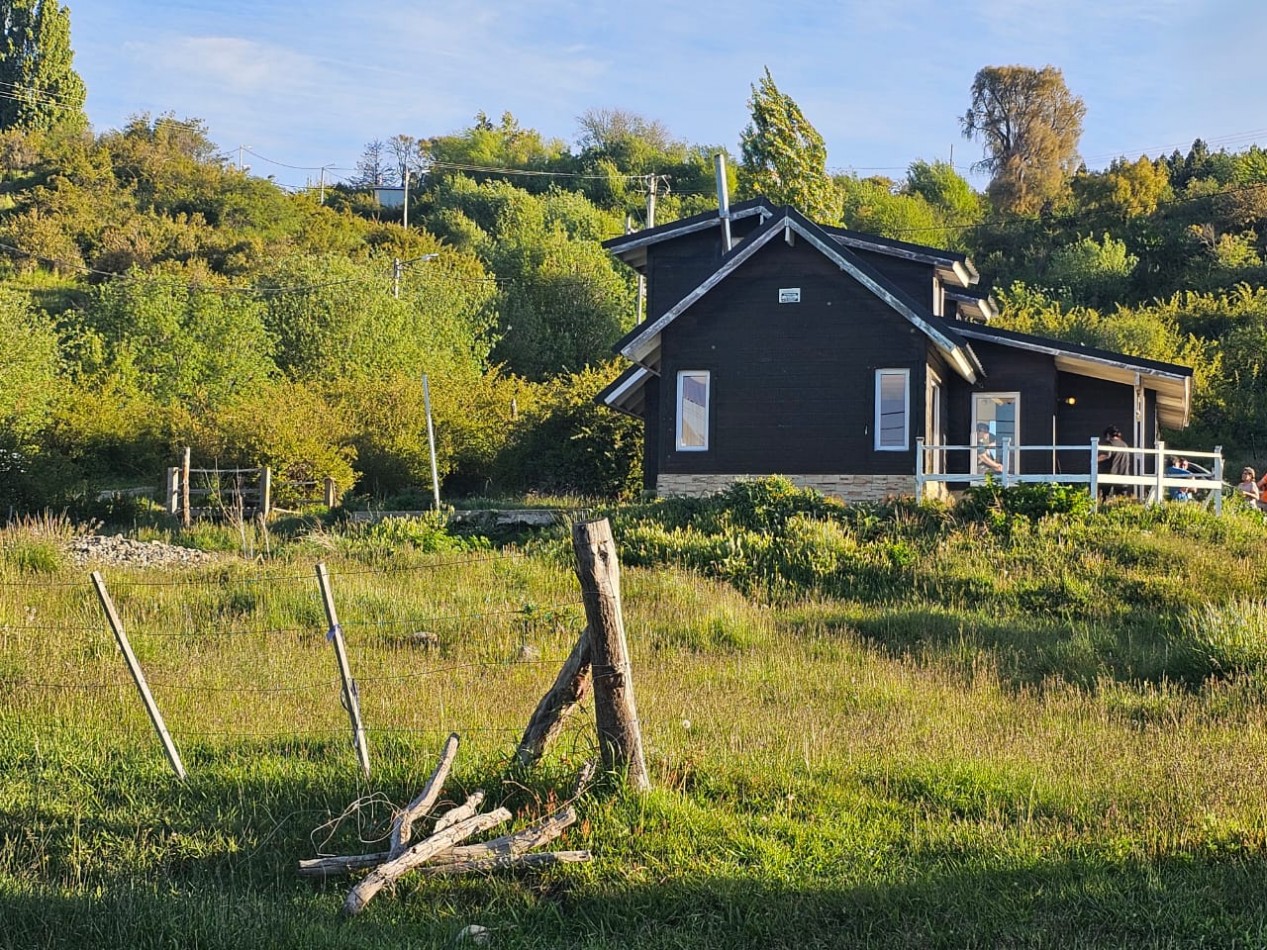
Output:
[[[1077,446],[1014,446],[1011,445],[1011,440],[1005,438],[998,443],[998,446],[991,447],[997,447],[998,450],[997,459],[1000,465],[1002,465],[1002,471],[997,474],[990,472],[990,476],[992,476],[995,481],[1003,488],[1015,484],[1038,481],[1055,481],[1064,485],[1086,485],[1087,490],[1091,493],[1091,500],[1093,504],[1098,503],[1100,490],[1106,485],[1133,488],[1148,504],[1156,504],[1157,502],[1164,500],[1171,489],[1182,491],[1205,491],[1207,493],[1205,500],[1209,504],[1213,504],[1215,513],[1223,513],[1223,446],[1215,446],[1213,452],[1175,452],[1173,450],[1167,450],[1164,442],[1158,442],[1156,448],[1133,448],[1130,446],[1114,446],[1109,443],[1101,445],[1098,438],[1092,438],[1090,445],[1083,443]],[[940,469],[945,467],[944,460],[946,459],[946,452],[967,452],[971,460],[979,451],[981,446],[927,445],[924,438],[915,440],[915,497],[922,500],[925,495],[925,486],[930,483],[957,483],[972,485],[984,483],[987,478],[986,472],[940,471]],[[1053,471],[1050,474],[1014,471],[1014,469],[1021,467],[1019,462],[1025,452],[1049,452],[1052,456],[1050,467]],[[1087,452],[1088,471],[1085,474],[1054,471],[1057,469],[1057,452]],[[1109,452],[1110,455],[1117,452],[1133,456],[1133,467],[1135,471],[1143,471],[1147,467],[1144,461],[1147,459],[1153,459],[1153,472],[1143,475],[1102,475],[1098,471],[1100,465],[1097,461],[1097,456],[1101,452]],[[1171,455],[1182,455],[1185,459],[1210,459],[1210,478],[1167,475],[1167,452]],[[930,465],[930,460],[941,464]]]

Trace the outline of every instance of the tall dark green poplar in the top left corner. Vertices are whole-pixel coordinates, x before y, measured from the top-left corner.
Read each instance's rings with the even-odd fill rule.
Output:
[[[0,129],[87,127],[71,61],[71,11],[56,0],[0,0]]]

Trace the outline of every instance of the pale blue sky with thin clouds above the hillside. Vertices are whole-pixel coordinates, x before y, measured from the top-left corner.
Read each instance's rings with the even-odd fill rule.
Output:
[[[862,175],[952,148],[957,167],[978,160],[958,118],[977,70],[1007,63],[1064,71],[1092,168],[1196,137],[1267,142],[1261,0],[63,1],[96,132],[144,111],[199,118],[288,185],[479,110],[571,142],[580,113],[616,106],[737,152],[767,66],[829,167]]]

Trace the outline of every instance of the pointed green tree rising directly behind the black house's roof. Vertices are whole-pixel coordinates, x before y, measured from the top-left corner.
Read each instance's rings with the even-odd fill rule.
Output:
[[[840,220],[840,198],[827,175],[827,147],[767,67],[748,100],[753,119],[740,133],[740,191],[788,204],[822,224]]]

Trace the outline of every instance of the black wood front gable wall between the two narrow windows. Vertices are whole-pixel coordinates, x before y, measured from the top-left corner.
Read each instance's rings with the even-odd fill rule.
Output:
[[[779,304],[799,288],[801,303]],[[803,242],[763,247],[664,331],[660,471],[911,474],[926,338]],[[910,369],[910,447],[874,451],[877,369]],[[675,451],[677,375],[708,370],[710,450]]]

